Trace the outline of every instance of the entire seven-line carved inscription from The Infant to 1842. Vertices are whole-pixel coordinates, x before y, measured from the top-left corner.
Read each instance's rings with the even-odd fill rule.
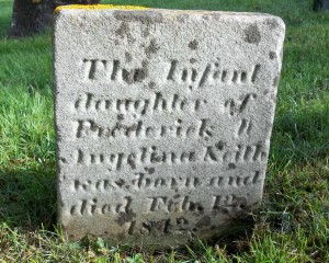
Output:
[[[129,68],[121,60],[83,59],[83,80],[92,82],[125,82],[134,84],[143,82],[148,73],[149,65],[145,61],[140,67]],[[117,140],[148,140],[172,138],[181,141],[205,140],[216,136],[218,123],[208,117],[198,117],[197,114],[209,110],[208,99],[191,96],[191,92],[204,90],[208,85],[252,85],[258,80],[261,65],[251,69],[228,70],[218,62],[208,62],[204,67],[186,66],[172,59],[168,64],[164,81],[168,83],[185,84],[186,95],[181,93],[166,93],[152,90],[147,98],[112,98],[109,95],[84,92],[73,102],[77,114],[83,114],[72,121],[73,134],[77,140],[117,141]],[[154,83],[152,87],[156,87]],[[205,96],[206,98],[206,96]],[[217,106],[216,104],[213,104]],[[252,128],[257,126],[247,115],[258,106],[258,94],[250,92],[239,98],[227,98],[223,101],[223,118],[232,122],[232,138],[248,138]],[[86,117],[87,116],[89,117]],[[98,114],[115,116],[115,122],[104,124]],[[157,114],[180,114],[171,123],[146,122],[145,119]],[[191,121],[191,114],[195,115]],[[189,116],[189,122],[185,121]],[[125,122],[128,118],[129,122]],[[212,141],[212,140],[209,140]],[[95,142],[98,144],[98,142]],[[113,180],[111,176],[100,180],[75,179],[71,191],[81,198],[69,207],[72,217],[115,216],[116,222],[126,229],[128,236],[168,235],[190,231],[208,226],[211,217],[205,215],[198,221],[191,224],[184,217],[172,217],[160,221],[136,219],[135,194],[145,195],[144,205],[139,213],[166,215],[193,214],[202,216],[205,211],[225,214],[236,218],[248,210],[246,197],[236,194],[220,194],[225,191],[253,187],[261,184],[261,172],[256,170],[248,174],[235,172],[239,165],[261,163],[266,160],[264,142],[258,144],[228,144],[225,140],[206,142],[203,147],[190,150],[163,150],[157,144],[138,147],[127,151],[95,151],[84,148],[76,149],[72,153],[78,167],[100,167],[104,174],[125,171],[125,178]],[[163,165],[225,165],[226,173],[209,176],[159,176],[156,169]],[[145,168],[145,171],[143,170]],[[240,169],[240,168],[239,168]],[[240,171],[240,170],[239,170]],[[209,191],[209,202],[195,202],[193,191]],[[168,192],[169,191],[169,192]],[[184,194],[178,194],[183,191]],[[184,192],[189,191],[189,192]],[[162,194],[161,192],[170,193]],[[98,196],[120,193],[122,198],[106,202]],[[146,194],[147,193],[147,194]],[[218,194],[212,194],[218,193]],[[94,196],[94,197],[92,197]]]

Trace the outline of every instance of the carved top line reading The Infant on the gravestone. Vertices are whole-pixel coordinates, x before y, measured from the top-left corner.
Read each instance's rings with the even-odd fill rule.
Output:
[[[82,60],[83,79],[92,81],[124,81],[128,84],[141,82],[146,79],[148,66],[143,60],[139,68],[128,69],[121,60],[107,59],[88,59]],[[169,62],[167,80],[174,82],[184,82],[192,90],[195,84],[202,88],[207,83],[223,82],[227,84],[254,83],[261,66],[254,65],[251,69],[228,70],[219,62],[209,62],[203,68],[186,67],[178,60],[172,59]]]

